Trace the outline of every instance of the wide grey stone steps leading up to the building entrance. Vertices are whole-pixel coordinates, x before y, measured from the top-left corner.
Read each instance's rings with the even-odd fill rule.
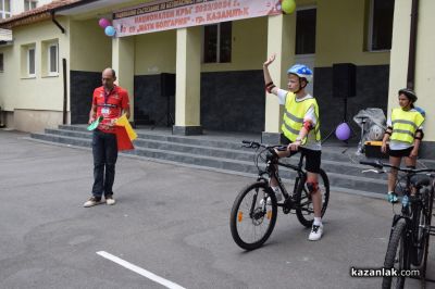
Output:
[[[46,129],[45,134],[32,134],[30,137],[42,141],[91,147],[91,133],[87,131],[85,126],[60,126],[59,129]],[[253,164],[254,150],[241,148],[241,143],[236,141],[219,138],[204,139],[197,136],[173,136],[170,133],[158,134],[153,130],[144,133],[141,130],[134,143],[136,149],[126,152],[129,155],[251,175],[252,177],[258,172]],[[368,167],[351,163],[349,158],[341,153],[345,149],[325,147],[322,150],[322,167],[330,177],[332,189],[361,193],[384,193],[386,176],[362,174],[361,172]],[[355,148],[352,149],[355,150]],[[298,160],[299,158],[295,156],[286,161],[295,164]],[[281,177],[294,179],[294,173],[283,168],[281,169]]]

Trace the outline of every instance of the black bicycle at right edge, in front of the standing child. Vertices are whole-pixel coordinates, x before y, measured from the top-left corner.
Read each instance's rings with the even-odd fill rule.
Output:
[[[403,288],[407,277],[418,277],[422,287],[426,282],[426,265],[430,236],[435,235],[431,226],[434,202],[435,169],[401,168],[382,162],[365,162],[375,173],[385,173],[384,167],[405,173],[398,177],[396,192],[402,194],[399,212],[395,212],[384,268],[394,276],[383,277],[382,288]],[[414,274],[413,274],[414,273]]]

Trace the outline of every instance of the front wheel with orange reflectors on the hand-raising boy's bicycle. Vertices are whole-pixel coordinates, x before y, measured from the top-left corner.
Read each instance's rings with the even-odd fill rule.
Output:
[[[229,228],[234,241],[245,250],[261,247],[275,227],[276,197],[268,184],[253,183],[234,201]]]

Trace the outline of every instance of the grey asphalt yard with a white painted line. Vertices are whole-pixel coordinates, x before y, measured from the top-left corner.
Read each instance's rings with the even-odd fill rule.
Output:
[[[350,271],[382,267],[391,205],[332,191],[321,241],[279,213],[268,242],[246,252],[231,237],[229,211],[253,180],[121,155],[117,203],[85,209],[89,149],[0,130],[0,288],[381,287]],[[419,286],[407,279],[406,288]]]

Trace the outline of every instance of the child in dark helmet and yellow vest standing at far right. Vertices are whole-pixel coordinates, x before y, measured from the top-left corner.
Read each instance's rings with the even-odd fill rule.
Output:
[[[387,121],[387,130],[382,140],[381,150],[389,154],[389,164],[399,166],[401,158],[405,156],[405,164],[415,168],[417,155],[419,154],[420,142],[423,139],[424,116],[415,110],[414,102],[417,95],[413,90],[403,88],[398,91],[400,108],[394,109]],[[387,149],[387,141],[389,148]],[[391,203],[398,201],[394,191],[397,179],[397,171],[388,174],[387,200]]]

